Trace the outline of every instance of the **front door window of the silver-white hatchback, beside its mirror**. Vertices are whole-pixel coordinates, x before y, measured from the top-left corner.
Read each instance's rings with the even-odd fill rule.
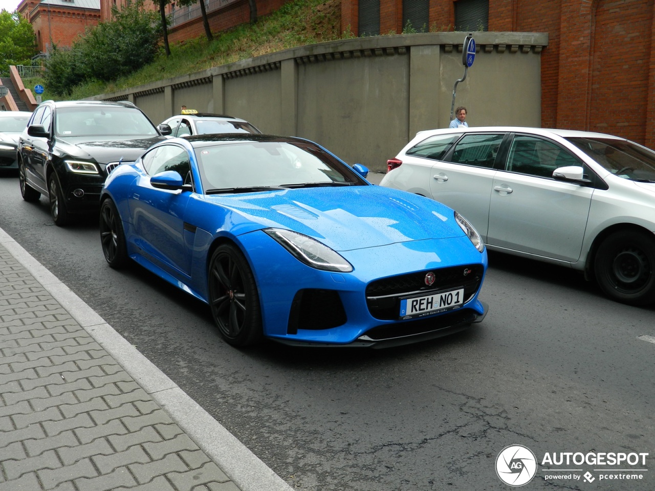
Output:
[[[557,143],[527,135],[517,135],[507,158],[507,170],[537,177],[552,177],[553,170],[582,163]]]

